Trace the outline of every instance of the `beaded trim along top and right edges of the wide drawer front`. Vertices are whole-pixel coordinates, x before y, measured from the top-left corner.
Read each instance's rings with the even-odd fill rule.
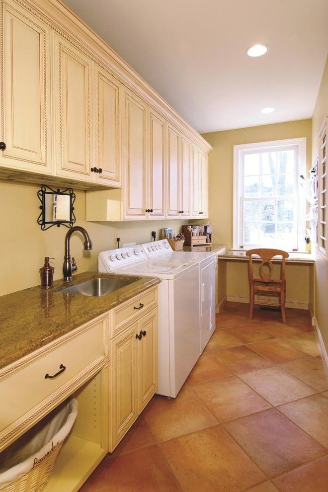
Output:
[[[109,339],[109,333],[108,333],[108,319],[107,319],[107,314],[105,316],[101,315],[99,318],[94,318],[91,322],[88,322],[80,328],[73,328],[72,331],[69,333],[66,333],[65,335],[61,336],[60,338],[55,339],[53,342],[50,342],[49,345],[46,345],[43,347],[41,350],[38,350],[37,352],[34,352],[32,355],[27,355],[24,358],[22,358],[18,363],[13,363],[13,365],[9,366],[8,369],[5,371],[1,371],[0,369],[0,380],[4,378],[4,376],[9,375],[11,372],[16,371],[19,369],[21,366],[24,364],[27,364],[28,362],[33,361],[40,355],[44,355],[50,350],[53,350],[55,347],[58,345],[61,345],[62,343],[70,340],[71,338],[74,338],[78,334],[82,333],[82,331],[86,331],[87,329],[91,328],[95,324],[103,322],[103,327],[104,327],[104,349],[106,350],[108,347],[108,339]],[[106,343],[106,345],[105,345]],[[108,350],[107,350],[108,352]],[[105,354],[106,355],[106,354]]]

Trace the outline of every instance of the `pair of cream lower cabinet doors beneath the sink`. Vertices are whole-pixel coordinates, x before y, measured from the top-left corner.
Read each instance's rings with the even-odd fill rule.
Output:
[[[109,451],[113,451],[158,388],[157,308],[111,340]]]

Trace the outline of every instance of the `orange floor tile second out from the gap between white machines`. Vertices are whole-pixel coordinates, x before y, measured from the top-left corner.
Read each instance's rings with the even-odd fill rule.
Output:
[[[254,371],[262,367],[269,367],[273,364],[268,359],[250,350],[246,345],[226,348],[224,350],[212,350],[211,353],[236,374]]]

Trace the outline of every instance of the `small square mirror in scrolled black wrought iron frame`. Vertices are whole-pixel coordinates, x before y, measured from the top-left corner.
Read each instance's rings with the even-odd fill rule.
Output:
[[[37,192],[41,202],[41,213],[37,219],[42,231],[46,231],[52,226],[73,227],[76,221],[74,215],[75,193],[72,188],[61,191],[59,188],[54,190],[45,184]]]

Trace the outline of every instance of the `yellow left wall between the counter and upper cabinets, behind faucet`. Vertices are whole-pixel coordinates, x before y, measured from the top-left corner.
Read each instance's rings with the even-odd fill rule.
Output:
[[[68,229],[54,226],[41,231],[36,222],[40,213],[38,189],[40,186],[37,184],[0,180],[0,295],[39,284],[39,268],[43,266],[44,256],[56,258],[51,261],[55,267],[54,279],[63,277],[64,239]],[[84,227],[93,243],[91,251],[84,251],[82,235],[74,233],[71,237],[72,255],[80,272],[97,271],[98,253],[115,247],[116,231],[120,234],[120,246],[123,242],[140,244],[151,241],[151,230],[156,231],[157,239],[160,239],[162,227],[171,227],[174,233],[180,232],[183,221],[85,222],[85,192],[74,191],[75,225]]]

